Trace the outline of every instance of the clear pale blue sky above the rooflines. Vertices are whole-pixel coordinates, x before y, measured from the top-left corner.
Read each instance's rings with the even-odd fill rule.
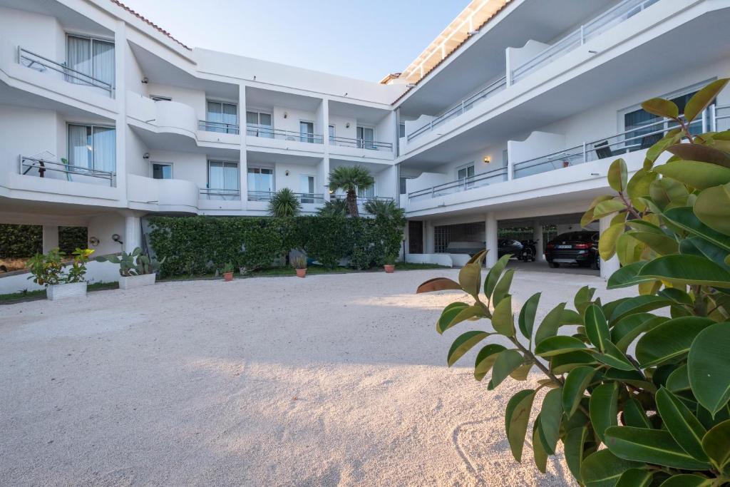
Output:
[[[191,47],[379,81],[469,0],[122,0]]]

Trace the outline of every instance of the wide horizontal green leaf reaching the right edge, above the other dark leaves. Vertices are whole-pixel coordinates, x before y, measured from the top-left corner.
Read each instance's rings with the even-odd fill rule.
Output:
[[[730,272],[709,258],[673,255],[655,258],[639,269],[639,277],[654,277],[677,284],[730,288]]]

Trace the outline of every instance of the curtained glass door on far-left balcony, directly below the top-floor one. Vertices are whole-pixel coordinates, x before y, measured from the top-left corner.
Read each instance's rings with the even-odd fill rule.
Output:
[[[117,135],[114,127],[69,124],[69,164],[114,172]]]

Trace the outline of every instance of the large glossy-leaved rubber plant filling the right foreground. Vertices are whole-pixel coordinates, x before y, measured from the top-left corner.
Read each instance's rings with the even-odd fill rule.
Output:
[[[696,93],[684,117],[672,101],[642,104],[677,129],[648,150],[631,179],[624,161],[614,161],[608,183],[616,193],[597,198],[583,218],[584,224],[612,218],[599,251],[604,259],[618,254],[623,267],[608,288],[636,286],[636,296],[604,303],[585,287],[573,299],[575,310],[558,304],[536,326],[537,293],[523,304],[515,326],[513,271],[504,270],[509,256],[482,282],[484,253],[461,269],[458,283],[439,278],[418,288],[460,289],[474,298],[445,307],[439,333],[467,320],[491,321],[487,331],[456,338],[449,366],[491,335],[502,335],[509,348],[491,343],[477,353],[476,380],[491,375],[493,390],[507,377],[526,380],[532,368],[545,375],[537,388],[507,403],[507,440],[518,461],[534,400],[547,389],[531,431],[542,472],[561,441],[570,472],[586,486],[728,483],[730,131],[688,130],[727,82]],[[655,165],[664,151],[672,154],[669,161]],[[566,325],[576,325],[575,334],[559,334]]]

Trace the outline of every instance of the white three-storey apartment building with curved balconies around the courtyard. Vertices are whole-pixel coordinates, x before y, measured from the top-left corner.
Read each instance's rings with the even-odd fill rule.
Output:
[[[497,229],[577,229],[614,158],[641,166],[667,129],[641,101],[730,76],[729,20],[730,0],[473,0],[370,83],[191,49],[116,0],[0,0],[0,223],[111,253],[145,215],[264,216],[281,188],[315,212],[361,164],[407,253],[468,235],[491,264]],[[694,129],[728,128],[726,92]]]

